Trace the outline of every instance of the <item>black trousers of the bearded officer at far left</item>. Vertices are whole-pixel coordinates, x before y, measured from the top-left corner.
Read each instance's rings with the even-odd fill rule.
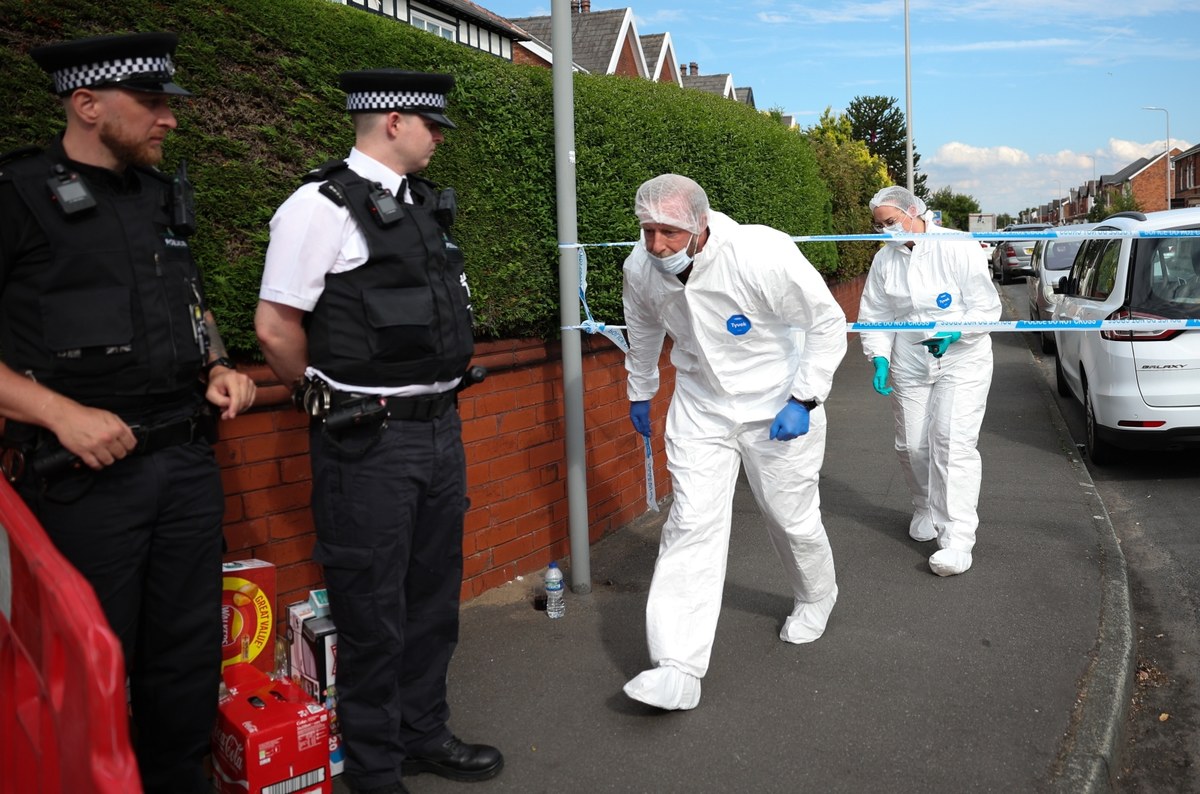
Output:
[[[221,676],[224,497],[208,441],[71,474],[22,497],[121,640],[146,792],[209,786]]]

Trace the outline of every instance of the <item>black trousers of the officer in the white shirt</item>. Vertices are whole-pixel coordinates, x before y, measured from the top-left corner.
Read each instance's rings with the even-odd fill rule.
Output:
[[[398,782],[442,745],[458,642],[467,468],[456,410],[311,433],[313,557],[337,626],[337,709],[353,788]],[[362,452],[362,450],[366,450]]]

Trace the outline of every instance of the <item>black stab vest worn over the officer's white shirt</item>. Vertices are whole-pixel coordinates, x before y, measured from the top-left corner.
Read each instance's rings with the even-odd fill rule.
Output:
[[[409,176],[415,203],[402,204],[401,219],[383,227],[368,209],[373,184],[344,162],[325,163],[305,181],[322,181],[322,193],[349,210],[368,251],[354,270],[325,276],[307,318],[308,362],[356,386],[461,377],[475,350],[470,290],[433,185]]]

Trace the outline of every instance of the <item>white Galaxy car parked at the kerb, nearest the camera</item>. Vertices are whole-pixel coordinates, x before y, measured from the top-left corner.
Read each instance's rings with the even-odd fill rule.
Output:
[[[1097,230],[1200,230],[1200,207],[1118,212]],[[1096,239],[1055,290],[1054,319],[1200,319],[1200,237]],[[1084,405],[1092,462],[1200,446],[1200,330],[1055,331],[1058,393]]]

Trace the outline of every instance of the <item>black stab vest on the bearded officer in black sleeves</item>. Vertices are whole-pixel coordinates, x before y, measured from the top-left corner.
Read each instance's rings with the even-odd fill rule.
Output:
[[[38,151],[0,167],[0,188],[12,184],[50,252],[46,266],[7,265],[5,363],[119,413],[194,398],[208,354],[203,288],[187,240],[170,229],[169,178],[131,168],[128,194],[84,178],[96,206],[67,215],[47,187],[56,163],[72,169]]]

